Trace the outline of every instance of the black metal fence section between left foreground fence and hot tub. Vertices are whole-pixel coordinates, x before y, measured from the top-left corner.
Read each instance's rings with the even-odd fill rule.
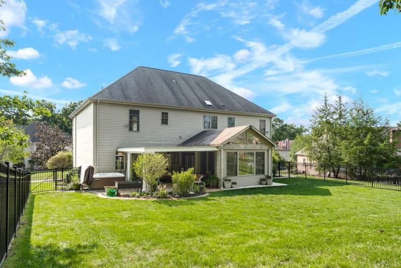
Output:
[[[31,170],[30,192],[65,190],[70,176],[78,172],[78,168],[55,168]]]

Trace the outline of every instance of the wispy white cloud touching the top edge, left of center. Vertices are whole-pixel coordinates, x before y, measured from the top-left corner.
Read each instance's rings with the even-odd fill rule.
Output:
[[[98,0],[98,15],[111,25],[111,29],[123,29],[130,33],[139,30],[141,24],[140,14],[138,12],[137,2],[127,0]]]

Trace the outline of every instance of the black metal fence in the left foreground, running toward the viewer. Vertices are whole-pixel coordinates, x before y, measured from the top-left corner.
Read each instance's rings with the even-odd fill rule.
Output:
[[[16,236],[20,217],[29,196],[30,171],[0,162],[0,266]]]

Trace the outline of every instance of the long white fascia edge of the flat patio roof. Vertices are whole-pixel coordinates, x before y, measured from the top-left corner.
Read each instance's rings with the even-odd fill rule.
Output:
[[[208,152],[219,151],[215,146],[171,146],[171,147],[119,147],[119,152],[152,154],[163,152]]]

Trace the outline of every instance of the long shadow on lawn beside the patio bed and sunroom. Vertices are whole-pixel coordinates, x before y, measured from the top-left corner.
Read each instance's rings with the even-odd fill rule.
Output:
[[[302,196],[331,196],[327,186],[344,186],[343,184],[304,180],[302,178],[275,178],[277,183],[287,184],[276,187],[257,187],[209,193],[207,197],[179,200],[156,200],[155,202],[175,207],[182,205],[195,205],[205,200],[215,201],[216,197],[231,197],[243,195],[302,195]]]

